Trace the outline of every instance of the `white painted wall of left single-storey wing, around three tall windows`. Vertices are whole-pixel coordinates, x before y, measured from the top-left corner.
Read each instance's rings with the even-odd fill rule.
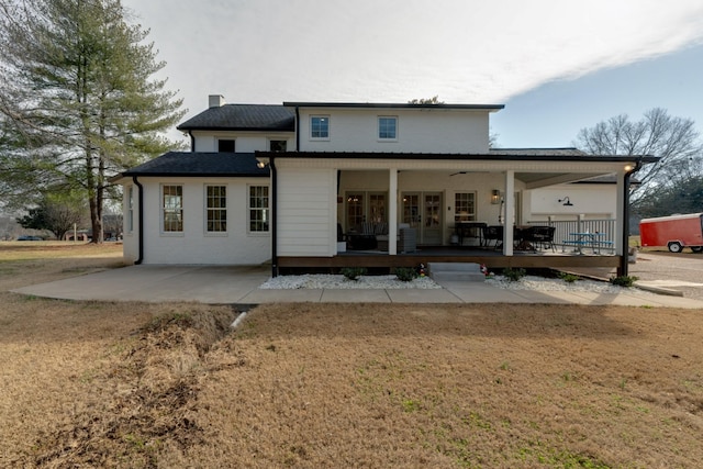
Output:
[[[271,258],[270,233],[248,233],[248,187],[267,178],[140,178],[144,186],[144,264],[258,265]],[[163,185],[183,186],[183,232],[161,232]],[[227,232],[205,233],[205,185],[227,187]],[[135,206],[135,219],[138,205]],[[125,236],[125,257],[138,256],[138,231]]]

